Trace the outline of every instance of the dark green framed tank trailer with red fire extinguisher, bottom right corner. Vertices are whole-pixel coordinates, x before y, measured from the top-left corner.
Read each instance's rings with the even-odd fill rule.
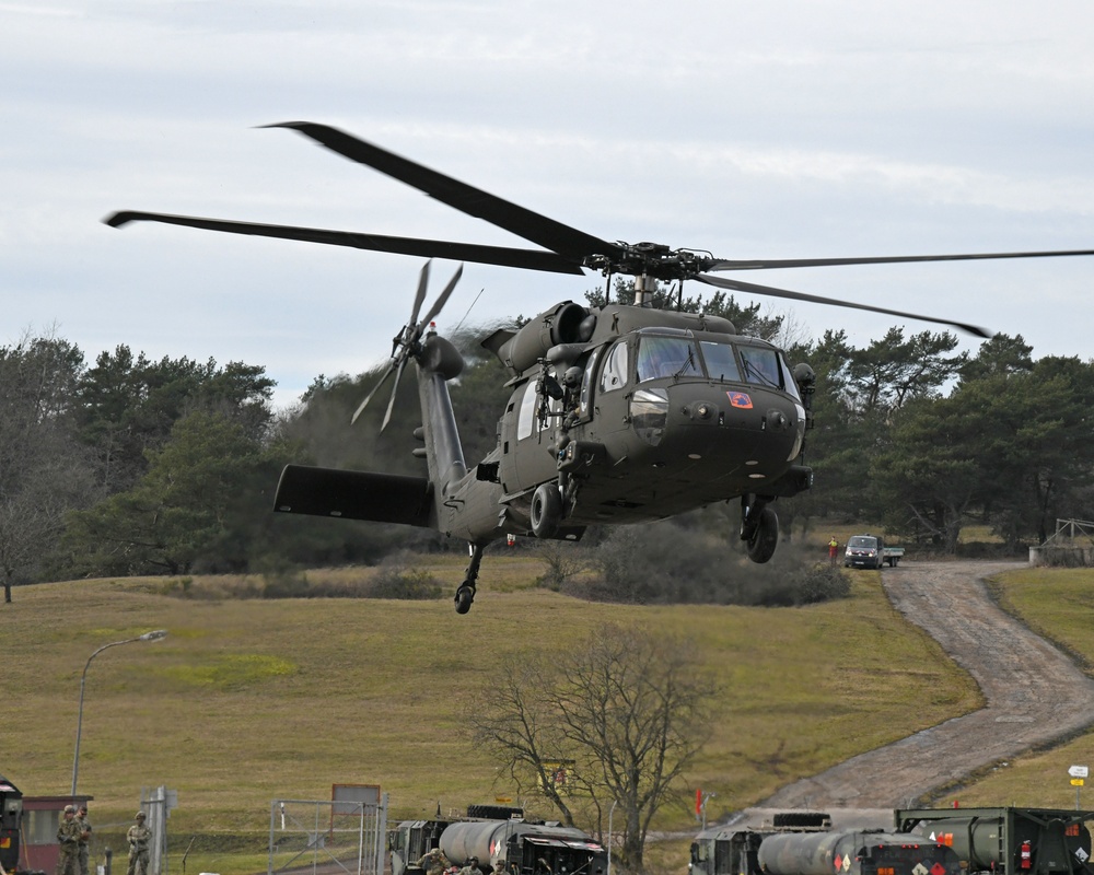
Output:
[[[973,872],[997,875],[1094,875],[1094,812],[1059,808],[898,808],[900,832],[953,848]]]

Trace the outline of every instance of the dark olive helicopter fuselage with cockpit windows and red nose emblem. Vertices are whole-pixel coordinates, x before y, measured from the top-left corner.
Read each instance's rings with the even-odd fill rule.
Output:
[[[794,373],[777,347],[732,330],[719,318],[566,302],[507,334],[499,358],[513,366],[523,343],[515,364],[527,366],[510,381],[497,448],[437,497],[438,527],[479,542],[532,534],[536,490],[554,482],[557,536],[571,538],[596,523],[807,489]],[[539,349],[529,335],[542,335]]]

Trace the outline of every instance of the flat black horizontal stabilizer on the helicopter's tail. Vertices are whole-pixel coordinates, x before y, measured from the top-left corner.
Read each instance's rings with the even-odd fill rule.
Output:
[[[431,491],[424,477],[287,465],[274,510],[428,528]]]

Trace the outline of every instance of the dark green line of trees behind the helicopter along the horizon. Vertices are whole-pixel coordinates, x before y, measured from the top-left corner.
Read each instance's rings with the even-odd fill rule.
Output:
[[[626,291],[617,294],[625,303]],[[815,486],[779,503],[784,530],[817,520],[882,523],[952,552],[962,528],[976,524],[1020,549],[1045,540],[1058,517],[1090,515],[1091,361],[1035,359],[1020,335],[997,335],[975,354],[956,352],[950,332],[899,327],[863,348],[841,330],[795,339],[783,317],[764,317],[732,296],[663,298],[725,315],[742,332],[779,342],[791,365],[815,370],[805,457]],[[457,340],[468,361],[452,396],[474,462],[496,443],[509,389],[503,368],[470,334]],[[420,424],[412,381],[399,386],[384,432],[384,405],[350,425],[377,372],[319,375],[299,404],[277,410],[261,365],[153,361],[127,346],[89,362],[53,334],[0,348],[0,580],[8,596],[13,584],[44,580],[270,572],[372,563],[393,544],[445,549],[437,533],[271,513],[288,463],[420,475],[423,463],[407,440]],[[724,555],[726,542],[736,549],[735,511],[709,509],[674,525]],[[626,574],[632,552],[620,551],[614,573]],[[605,580],[610,585],[610,574]],[[694,570],[688,580],[696,581]]]

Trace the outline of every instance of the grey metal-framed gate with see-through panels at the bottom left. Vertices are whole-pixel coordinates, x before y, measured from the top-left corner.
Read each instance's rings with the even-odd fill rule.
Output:
[[[379,804],[274,800],[267,875],[383,875],[387,794]]]

